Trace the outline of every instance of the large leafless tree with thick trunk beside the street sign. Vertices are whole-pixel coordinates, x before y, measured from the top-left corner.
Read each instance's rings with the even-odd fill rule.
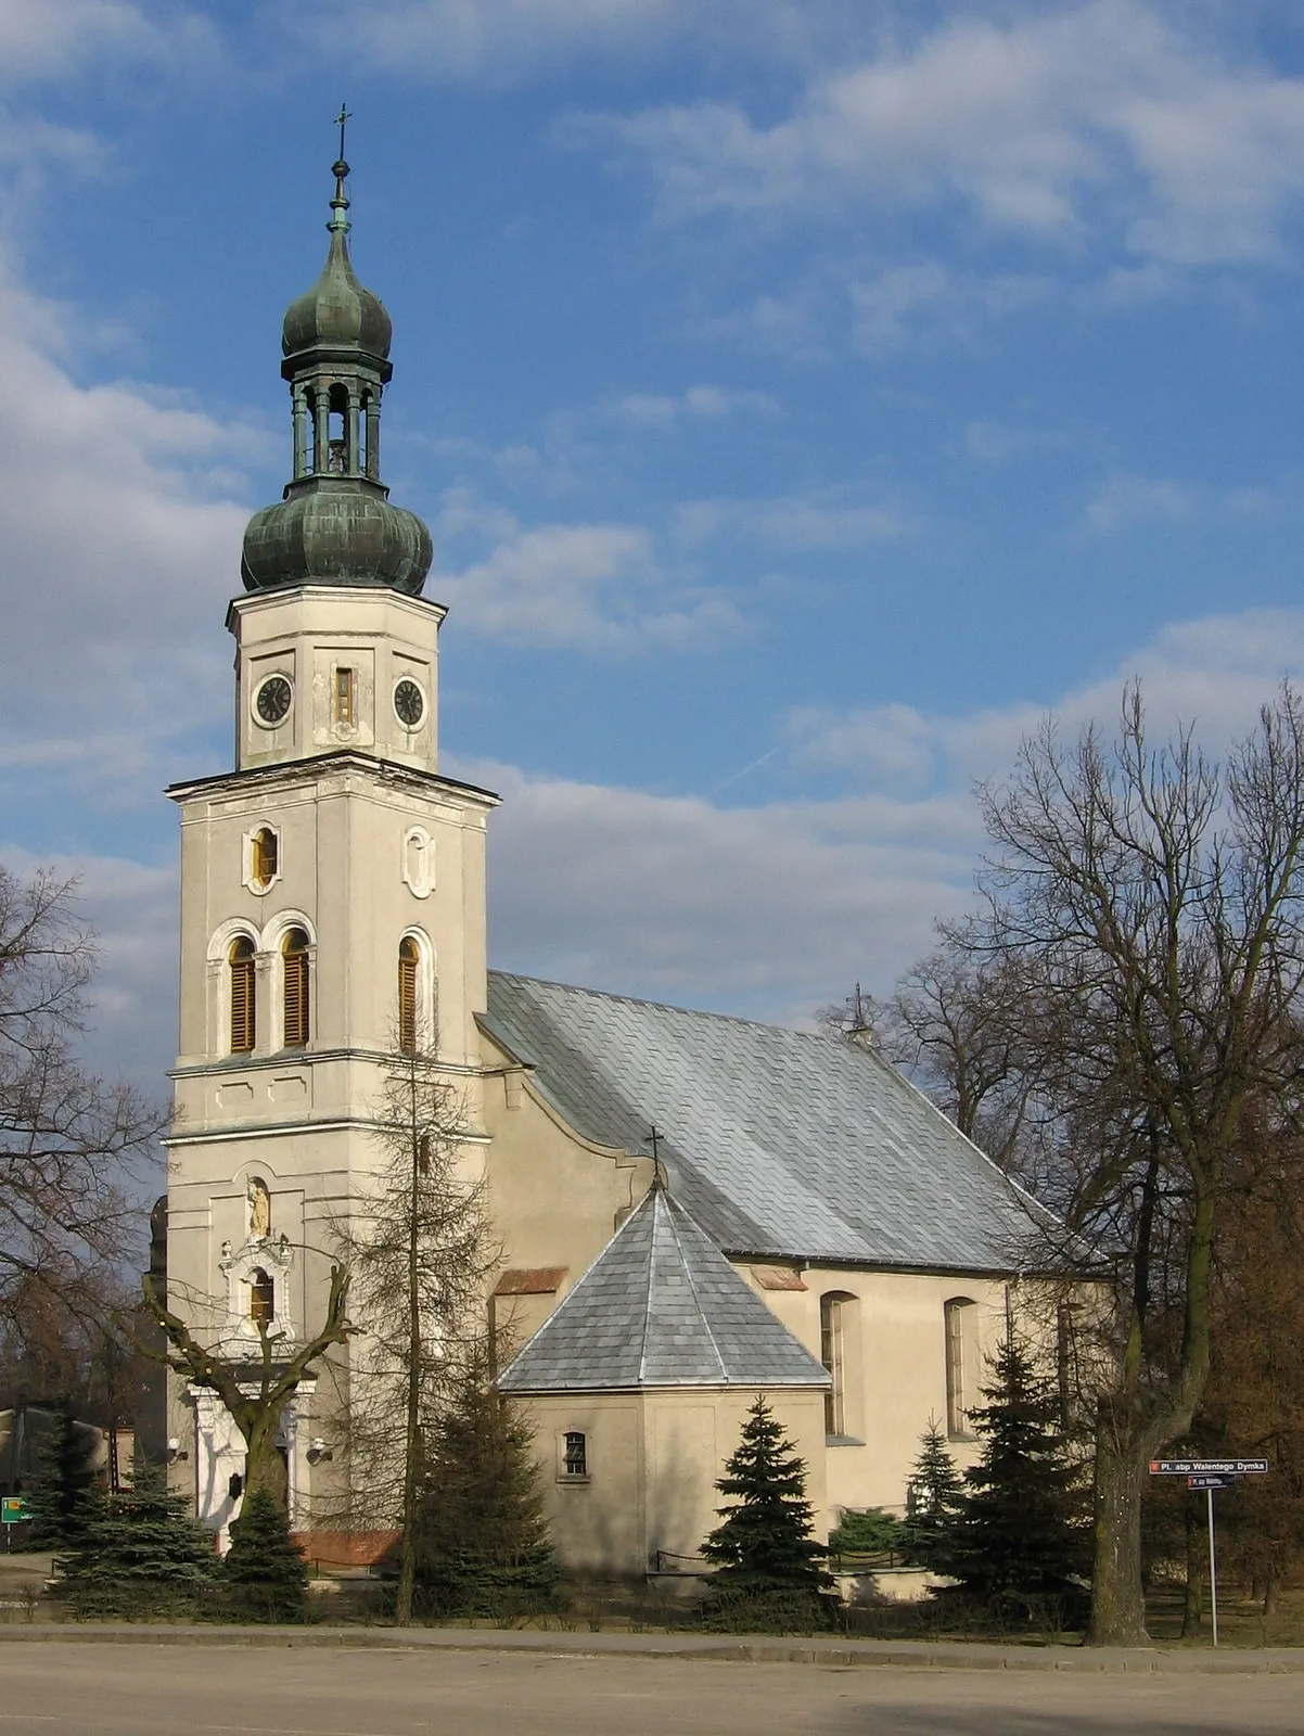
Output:
[[[983,792],[995,859],[967,936],[1026,1007],[1054,1109],[1057,1255],[1113,1286],[1096,1394],[1090,1637],[1146,1637],[1141,1491],[1210,1366],[1219,1212],[1252,1097],[1292,1104],[1304,984],[1304,705],[1283,687],[1224,767],[1189,731],[1064,748],[1047,722]]]

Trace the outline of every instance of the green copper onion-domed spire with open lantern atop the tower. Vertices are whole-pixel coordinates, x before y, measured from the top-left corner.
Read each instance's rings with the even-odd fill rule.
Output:
[[[415,512],[391,505],[380,481],[380,398],[392,372],[392,328],[349,259],[342,149],[332,174],[326,264],[290,304],[281,328],[293,477],[276,505],[250,519],[241,578],[247,590],[377,585],[415,597],[431,569],[431,533]]]

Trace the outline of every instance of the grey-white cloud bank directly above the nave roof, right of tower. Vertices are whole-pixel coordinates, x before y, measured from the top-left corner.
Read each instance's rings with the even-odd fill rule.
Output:
[[[514,767],[491,821],[491,957],[596,988],[809,1019],[891,981],[965,899],[964,804],[886,799],[722,809]]]

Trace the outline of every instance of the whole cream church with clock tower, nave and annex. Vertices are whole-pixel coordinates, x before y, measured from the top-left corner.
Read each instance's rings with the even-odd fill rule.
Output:
[[[488,969],[498,799],[439,769],[446,611],[429,531],[382,483],[391,321],[354,274],[347,174],[283,323],[292,477],[245,531],[227,611],[234,767],[168,792],[170,1304],[234,1359],[260,1323],[311,1337],[333,1227],[382,1165],[387,1069],[432,1049],[500,1250],[498,1389],[533,1425],[566,1568],[691,1571],[759,1394],[821,1529],[899,1512],[929,1420],[974,1451],[1030,1201],[872,1045]],[[354,1326],[323,1359],[346,1394]],[[347,1496],[325,1384],[280,1439],[300,1533]],[[205,1389],[174,1380],[168,1406],[174,1486],[224,1533],[243,1441]]]

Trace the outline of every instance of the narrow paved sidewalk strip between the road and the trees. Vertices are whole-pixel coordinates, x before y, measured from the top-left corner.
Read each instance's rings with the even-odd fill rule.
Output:
[[[5,1641],[122,1646],[248,1646],[335,1651],[509,1651],[545,1658],[705,1658],[825,1668],[1061,1670],[1075,1675],[1304,1675],[1304,1647],[1122,1649],[986,1646],[972,1641],[769,1639],[726,1634],[580,1634],[537,1628],[217,1627],[132,1621],[9,1621]]]

